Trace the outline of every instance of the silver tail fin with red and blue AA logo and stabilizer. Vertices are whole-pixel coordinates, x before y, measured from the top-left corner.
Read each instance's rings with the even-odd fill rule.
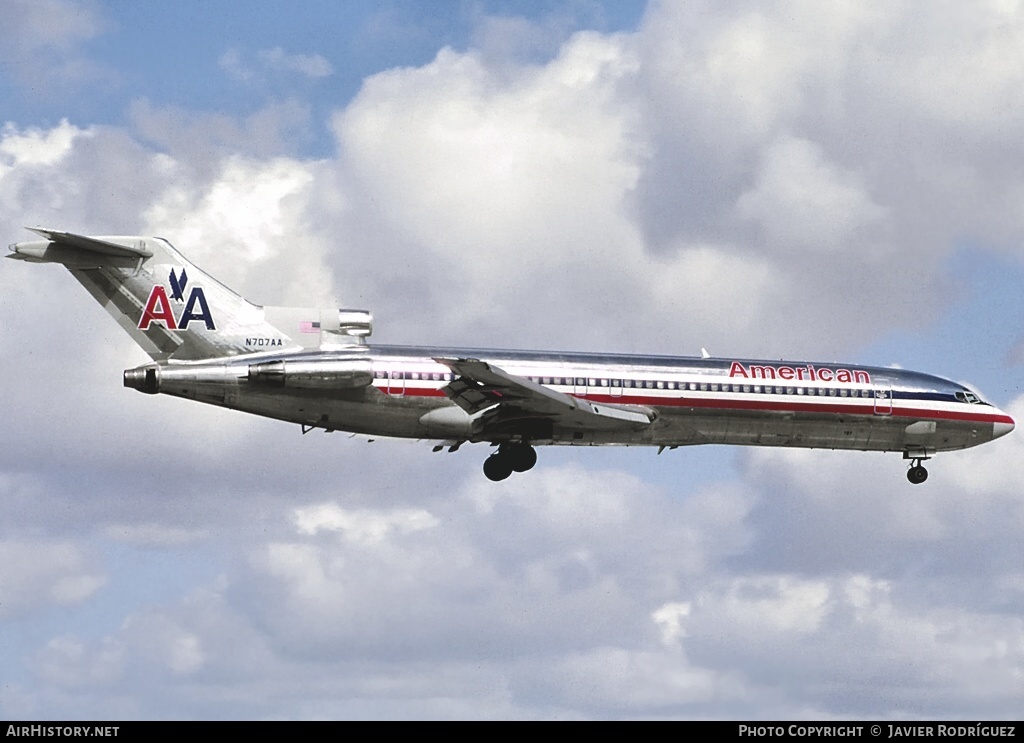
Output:
[[[46,239],[12,245],[7,257],[63,265],[156,361],[351,345],[370,334],[369,313],[343,327],[352,311],[247,302],[162,237],[32,231]]]

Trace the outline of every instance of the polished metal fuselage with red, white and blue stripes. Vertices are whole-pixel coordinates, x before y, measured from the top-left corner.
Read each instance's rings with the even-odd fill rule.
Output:
[[[653,410],[654,420],[638,430],[588,431],[526,417],[477,433],[474,417],[443,391],[455,376],[435,359],[452,357],[480,359],[595,403]],[[279,362],[353,372],[278,379]],[[1009,416],[949,380],[839,363],[356,346],[146,364],[126,372],[125,385],[327,431],[449,443],[736,444],[928,456],[1013,428]]]

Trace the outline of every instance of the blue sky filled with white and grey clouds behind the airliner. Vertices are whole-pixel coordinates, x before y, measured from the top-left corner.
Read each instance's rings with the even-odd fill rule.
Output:
[[[899,364],[1024,417],[1024,7],[0,0],[0,234],[379,343]],[[483,445],[122,387],[0,264],[0,717],[1019,718],[1024,438]]]

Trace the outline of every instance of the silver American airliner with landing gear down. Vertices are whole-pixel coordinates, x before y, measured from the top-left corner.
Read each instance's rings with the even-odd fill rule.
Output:
[[[901,452],[920,484],[934,454],[1014,429],[972,388],[900,368],[370,345],[370,312],[252,304],[162,237],[29,229],[44,239],[7,258],[62,264],[153,359],[125,387],[302,433],[488,443],[493,481],[542,445],[735,444]]]

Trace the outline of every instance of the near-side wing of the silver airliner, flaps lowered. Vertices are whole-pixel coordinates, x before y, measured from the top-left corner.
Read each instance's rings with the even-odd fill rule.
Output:
[[[495,425],[509,421],[545,420],[552,424],[589,431],[639,431],[654,421],[653,409],[642,405],[593,403],[550,387],[511,375],[475,358],[435,358],[452,369],[456,380],[444,394],[473,416],[494,408],[488,417]],[[485,424],[486,427],[486,424]]]

